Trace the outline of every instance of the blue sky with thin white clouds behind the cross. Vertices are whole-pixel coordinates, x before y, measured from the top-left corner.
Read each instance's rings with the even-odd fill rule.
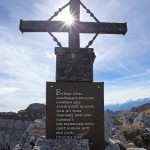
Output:
[[[18,111],[30,103],[45,103],[46,81],[55,81],[57,44],[48,33],[22,35],[19,21],[47,20],[67,2],[0,0],[0,111]],[[150,1],[82,3],[101,22],[128,24],[125,36],[99,35],[91,46],[96,53],[94,81],[105,82],[105,104],[150,97]],[[81,20],[94,21],[82,8]],[[55,35],[63,46],[68,46],[67,33]],[[80,37],[84,47],[93,35]]]

